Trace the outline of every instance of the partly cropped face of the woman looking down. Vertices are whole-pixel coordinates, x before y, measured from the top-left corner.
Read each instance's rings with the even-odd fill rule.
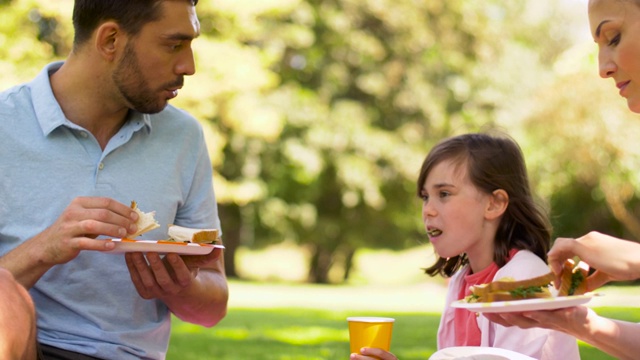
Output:
[[[640,113],[640,5],[590,0],[589,25],[598,44],[600,76],[613,78],[629,109]]]

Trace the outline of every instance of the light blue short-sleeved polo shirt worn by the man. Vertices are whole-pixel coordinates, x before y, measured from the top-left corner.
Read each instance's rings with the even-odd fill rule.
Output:
[[[78,196],[105,196],[162,225],[220,228],[212,167],[200,124],[167,106],[132,113],[102,150],[58,105],[48,65],[30,83],[0,93],[0,256],[49,227]],[[136,292],[123,255],[82,251],[30,290],[42,343],[105,359],[165,357],[170,313]]]

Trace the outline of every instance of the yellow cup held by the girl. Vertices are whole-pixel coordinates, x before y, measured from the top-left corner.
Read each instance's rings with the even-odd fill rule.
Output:
[[[360,354],[363,347],[374,347],[389,351],[391,348],[391,332],[393,318],[383,317],[348,317],[349,346],[351,354]]]

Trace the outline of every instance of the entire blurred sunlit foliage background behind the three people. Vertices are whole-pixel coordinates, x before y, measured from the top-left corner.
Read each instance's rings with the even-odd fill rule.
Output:
[[[69,53],[72,7],[0,0],[2,89]],[[357,283],[357,260],[376,249],[419,248],[414,268],[430,265],[421,162],[445,137],[490,129],[522,146],[556,236],[640,238],[640,120],[598,77],[586,0],[197,11],[197,73],[173,104],[206,131],[230,278]],[[274,246],[286,257],[252,268]]]

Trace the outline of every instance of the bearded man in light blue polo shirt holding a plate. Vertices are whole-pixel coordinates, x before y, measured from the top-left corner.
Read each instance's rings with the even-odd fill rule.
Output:
[[[110,254],[137,229],[220,228],[195,119],[167,102],[195,72],[197,0],[76,0],[63,63],[0,94],[0,267],[29,289],[39,348],[69,359],[161,359],[170,314],[226,314],[220,250]]]

